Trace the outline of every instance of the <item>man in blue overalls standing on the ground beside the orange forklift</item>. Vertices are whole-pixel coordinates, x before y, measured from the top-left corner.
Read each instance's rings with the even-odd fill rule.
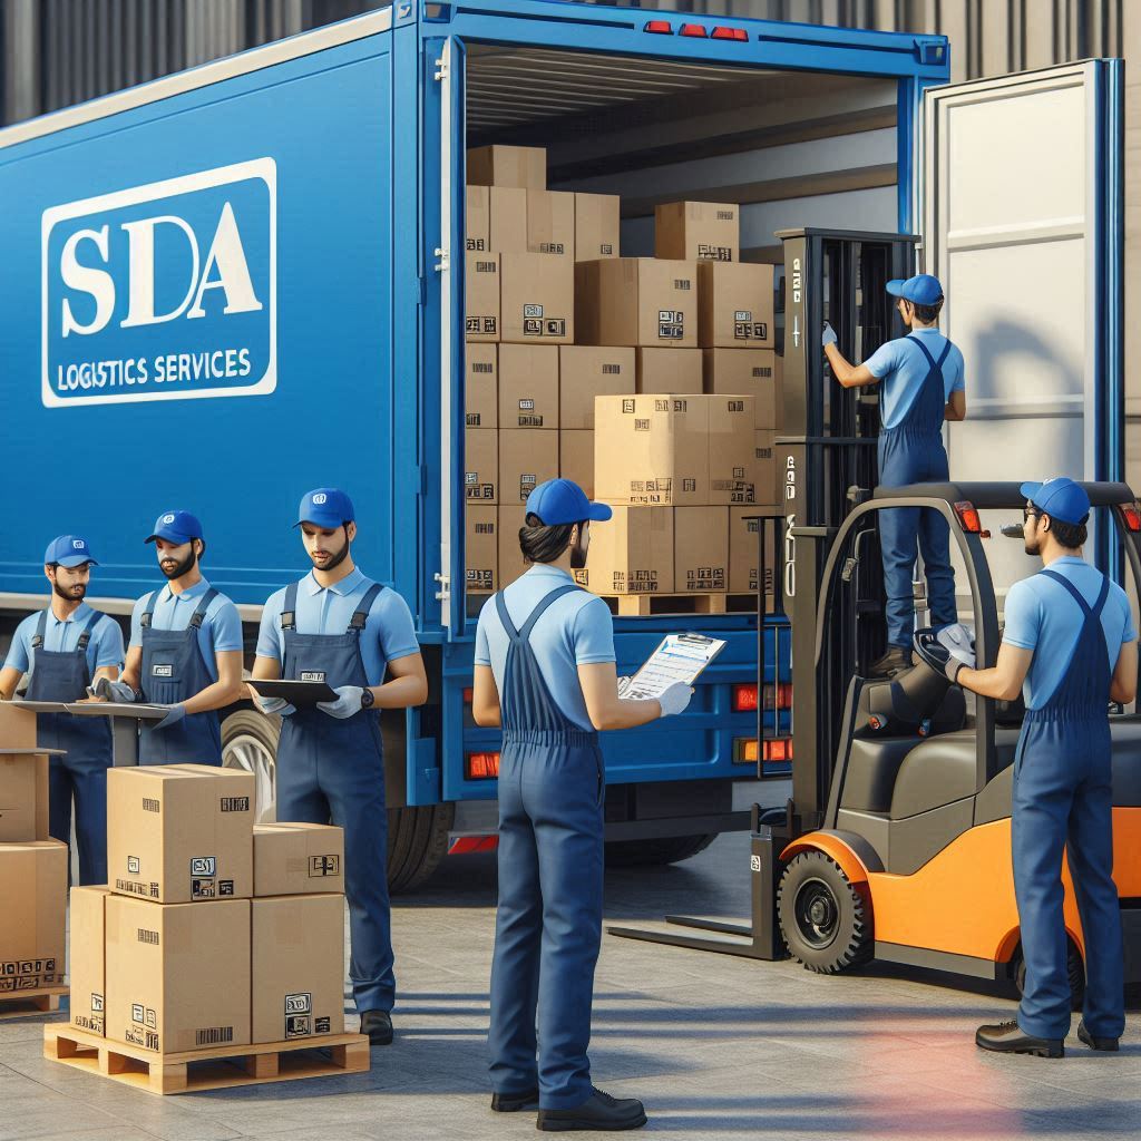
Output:
[[[1062,852],[1085,937],[1077,1036],[1117,1050],[1125,1028],[1120,905],[1114,885],[1110,702],[1136,696],[1136,630],[1125,592],[1082,558],[1090,499],[1071,479],[1022,485],[1028,555],[1043,569],[1006,596],[993,669],[953,656],[948,677],[984,697],[1026,698],[1014,754],[1011,840],[1026,984],[1018,1019],[984,1026],[984,1050],[1060,1058],[1070,1029]],[[1023,689],[1025,687],[1025,689]]]

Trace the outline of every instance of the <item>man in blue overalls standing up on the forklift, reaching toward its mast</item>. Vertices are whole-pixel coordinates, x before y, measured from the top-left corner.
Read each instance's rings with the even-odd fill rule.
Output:
[[[906,337],[887,341],[864,364],[852,365],[826,324],[824,353],[832,374],[844,388],[880,385],[880,486],[945,483],[948,471],[942,424],[966,418],[963,354],[939,332],[944,296],[937,277],[917,274],[906,281],[890,281],[888,292],[897,299],[899,315],[911,327]],[[879,518],[888,650],[869,674],[892,677],[912,664],[916,543],[923,556],[931,626],[937,632],[958,622],[955,574],[950,566],[950,532],[938,511],[893,508],[880,511]]]

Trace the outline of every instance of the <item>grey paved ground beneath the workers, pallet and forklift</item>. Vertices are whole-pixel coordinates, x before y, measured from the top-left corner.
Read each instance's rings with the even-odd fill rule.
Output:
[[[742,916],[747,839],[723,836],[671,868],[615,872],[612,921],[665,912]],[[484,1039],[494,858],[445,861],[395,915],[393,1046],[370,1074],[155,1098],[41,1057],[40,1019],[0,1022],[0,1141],[411,1141],[526,1138],[534,1115],[488,1109]],[[873,966],[820,978],[794,963],[605,937],[594,1079],[637,1095],[647,1131],[678,1138],[954,1139],[1141,1136],[1141,1015],[1119,1054],[1071,1037],[1060,1061],[984,1054],[1000,989]],[[1075,1018],[1074,1028],[1077,1028]]]

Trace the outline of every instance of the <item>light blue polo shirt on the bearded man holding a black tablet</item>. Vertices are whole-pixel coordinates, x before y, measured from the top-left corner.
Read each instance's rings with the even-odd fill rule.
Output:
[[[299,634],[342,634],[353,615],[364,601],[372,580],[359,567],[354,567],[340,582],[322,586],[310,570],[297,589],[297,609],[293,621]],[[282,630],[282,610],[285,609],[285,590],[272,594],[261,612],[258,630],[258,657],[282,662],[285,656],[285,633]],[[361,631],[361,659],[370,686],[385,680],[389,662],[420,653],[415,624],[408,604],[395,590],[386,586],[372,602],[369,621]]]

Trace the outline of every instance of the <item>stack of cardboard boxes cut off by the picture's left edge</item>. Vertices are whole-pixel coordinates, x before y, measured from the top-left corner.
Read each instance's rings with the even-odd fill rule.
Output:
[[[48,833],[35,714],[0,702],[0,1001],[64,990],[67,845]]]

